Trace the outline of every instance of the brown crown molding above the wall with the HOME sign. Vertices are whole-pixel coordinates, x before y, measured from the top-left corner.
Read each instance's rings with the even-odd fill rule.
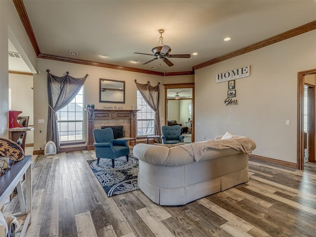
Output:
[[[305,25],[299,26],[299,27],[294,28],[292,30],[289,30],[289,31],[286,31],[286,32],[281,33],[279,35],[268,38],[266,40],[259,41],[257,43],[251,44],[251,45],[246,46],[244,48],[237,49],[236,51],[230,52],[230,53],[222,55],[220,57],[213,58],[213,59],[206,61],[204,63],[197,64],[196,66],[193,66],[193,69],[197,70],[200,68],[204,68],[204,67],[207,67],[209,65],[219,63],[219,62],[222,62],[222,61],[230,59],[230,58],[234,58],[234,57],[239,56],[241,54],[248,53],[248,52],[251,52],[253,50],[271,45],[273,43],[277,43],[279,41],[287,40],[287,39],[292,38],[294,36],[298,36],[298,35],[304,34],[306,32],[313,31],[315,29],[316,29],[316,21],[312,21],[312,22],[307,23]]]

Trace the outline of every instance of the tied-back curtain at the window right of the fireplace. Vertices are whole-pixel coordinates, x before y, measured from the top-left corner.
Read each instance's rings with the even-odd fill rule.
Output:
[[[159,84],[156,86],[152,86],[149,83],[141,84],[137,83],[136,81],[135,84],[146,103],[155,112],[155,135],[161,136],[159,118]]]

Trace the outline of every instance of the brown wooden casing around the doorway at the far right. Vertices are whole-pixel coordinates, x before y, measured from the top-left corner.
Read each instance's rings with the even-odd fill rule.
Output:
[[[316,74],[316,69],[297,73],[297,169],[304,170],[304,77]],[[314,107],[315,108],[315,107]],[[315,123],[313,124],[315,126]],[[315,129],[314,129],[315,131]]]

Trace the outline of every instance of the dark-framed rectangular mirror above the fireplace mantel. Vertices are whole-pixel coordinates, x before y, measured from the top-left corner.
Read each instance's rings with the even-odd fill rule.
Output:
[[[125,81],[100,78],[100,103],[125,103]]]

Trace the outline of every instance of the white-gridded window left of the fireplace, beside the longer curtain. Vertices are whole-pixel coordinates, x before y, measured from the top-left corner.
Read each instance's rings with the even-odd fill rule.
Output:
[[[83,87],[67,106],[57,111],[57,124],[60,142],[83,140]]]

